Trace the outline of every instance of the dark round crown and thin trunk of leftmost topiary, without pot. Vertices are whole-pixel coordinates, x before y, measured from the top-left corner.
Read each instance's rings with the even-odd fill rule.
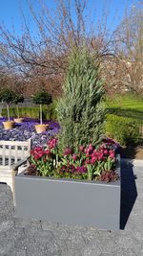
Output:
[[[8,121],[10,121],[10,104],[14,102],[15,93],[9,88],[3,89],[0,92],[0,102],[7,104]]]

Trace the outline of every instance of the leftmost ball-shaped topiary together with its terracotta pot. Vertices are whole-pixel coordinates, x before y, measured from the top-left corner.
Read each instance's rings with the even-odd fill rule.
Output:
[[[7,104],[8,121],[3,122],[5,129],[14,128],[15,122],[10,120],[10,104],[13,103],[15,93],[10,88],[3,89],[0,92],[0,101]]]

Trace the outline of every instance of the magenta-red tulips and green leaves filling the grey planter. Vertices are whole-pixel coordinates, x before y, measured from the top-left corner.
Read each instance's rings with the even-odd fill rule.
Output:
[[[51,138],[46,147],[35,147],[31,151],[31,165],[27,175],[52,176],[58,178],[114,181],[115,148],[117,144],[105,141],[95,148],[79,146],[76,152],[67,148],[59,152],[57,138]]]

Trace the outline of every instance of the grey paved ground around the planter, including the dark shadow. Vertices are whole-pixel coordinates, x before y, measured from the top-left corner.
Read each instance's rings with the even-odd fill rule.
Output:
[[[10,188],[0,184],[0,255],[143,256],[143,168],[124,164],[122,173],[124,229],[112,232],[16,219]]]

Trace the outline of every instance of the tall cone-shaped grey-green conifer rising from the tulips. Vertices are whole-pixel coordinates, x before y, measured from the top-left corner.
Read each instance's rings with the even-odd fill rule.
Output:
[[[103,135],[105,107],[98,66],[87,49],[74,49],[69,60],[63,97],[57,106],[60,147],[98,144]]]

